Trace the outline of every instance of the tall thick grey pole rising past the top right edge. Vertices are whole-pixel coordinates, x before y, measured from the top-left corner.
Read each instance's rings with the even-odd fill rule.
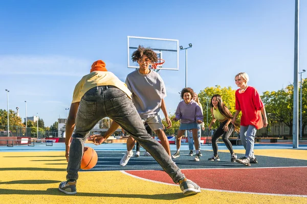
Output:
[[[299,0],[295,0],[294,17],[294,80],[293,80],[293,148],[298,148],[298,41],[299,41]]]

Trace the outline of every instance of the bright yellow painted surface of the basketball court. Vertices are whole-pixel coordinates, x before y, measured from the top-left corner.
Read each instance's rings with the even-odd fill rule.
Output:
[[[303,155],[298,159],[307,159],[297,152],[256,151],[259,155]],[[66,195],[58,190],[66,175],[63,155],[62,151],[0,152],[0,203],[307,203],[307,197],[205,189],[197,195],[184,196],[178,185],[139,179],[122,171],[79,172],[78,193]]]

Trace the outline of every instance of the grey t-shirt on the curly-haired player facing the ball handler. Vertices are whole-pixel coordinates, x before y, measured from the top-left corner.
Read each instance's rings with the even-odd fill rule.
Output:
[[[148,74],[141,74],[135,70],[127,75],[126,85],[141,118],[158,115],[161,100],[166,97],[166,89],[157,72],[150,70]]]

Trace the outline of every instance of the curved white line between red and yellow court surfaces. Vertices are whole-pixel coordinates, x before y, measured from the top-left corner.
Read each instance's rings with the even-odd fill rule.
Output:
[[[127,170],[128,171],[128,170]],[[134,171],[134,170],[130,170],[130,171]],[[141,171],[141,170],[139,170]],[[164,182],[158,182],[158,181],[153,181],[153,180],[149,180],[149,179],[144,179],[142,177],[130,174],[128,172],[126,172],[125,170],[120,170],[120,172],[122,172],[123,174],[129,175],[131,177],[135,177],[136,179],[140,179],[140,180],[144,180],[144,181],[148,181],[148,182],[153,182],[153,183],[157,183],[157,184],[166,184],[166,185],[170,185],[170,186],[179,186],[178,184],[168,184],[168,183],[164,183]],[[255,193],[255,192],[242,192],[242,191],[227,191],[227,190],[218,190],[218,189],[209,189],[209,188],[201,188],[202,190],[207,190],[207,191],[218,191],[218,192],[227,192],[227,193],[244,193],[244,194],[257,194],[257,195],[274,195],[274,196],[289,196],[289,197],[307,197],[307,195],[288,195],[288,194],[275,194],[275,193]]]

